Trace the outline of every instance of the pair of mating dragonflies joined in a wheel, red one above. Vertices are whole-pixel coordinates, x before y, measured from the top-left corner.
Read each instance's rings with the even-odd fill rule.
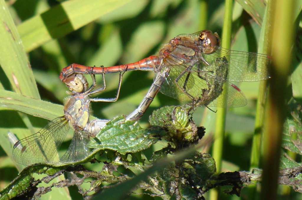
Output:
[[[262,81],[269,78],[267,65],[270,58],[264,54],[234,51],[220,47],[217,33],[203,30],[193,34],[181,34],[163,46],[157,56],[149,56],[138,62],[111,67],[89,67],[72,64],[63,68],[59,78],[73,90],[72,97],[64,107],[65,115],[50,122],[36,134],[18,141],[13,148],[16,162],[51,163],[57,155],[70,127],[74,136],[68,150],[59,157],[63,163],[74,163],[89,152],[87,142],[108,120],[89,122],[89,102],[116,101],[122,75],[120,75],[117,97],[112,99],[90,99],[89,95],[104,90],[92,91],[94,75],[132,70],[154,71],[155,78],[148,93],[136,110],[126,120],[138,120],[149,107],[158,91],[194,106],[240,107],[247,101],[241,90],[231,83]],[[80,74],[93,77],[92,87],[75,90],[77,83],[87,84]],[[81,81],[79,81],[79,80]],[[104,82],[105,84],[105,82]],[[223,86],[226,87],[223,87]],[[51,138],[51,139],[50,139]],[[34,157],[34,159],[33,159]]]

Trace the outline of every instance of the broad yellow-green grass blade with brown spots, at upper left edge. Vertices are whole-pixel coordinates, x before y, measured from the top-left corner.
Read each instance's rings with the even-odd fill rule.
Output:
[[[14,91],[40,99],[19,33],[3,0],[0,0],[0,10],[0,65]]]

